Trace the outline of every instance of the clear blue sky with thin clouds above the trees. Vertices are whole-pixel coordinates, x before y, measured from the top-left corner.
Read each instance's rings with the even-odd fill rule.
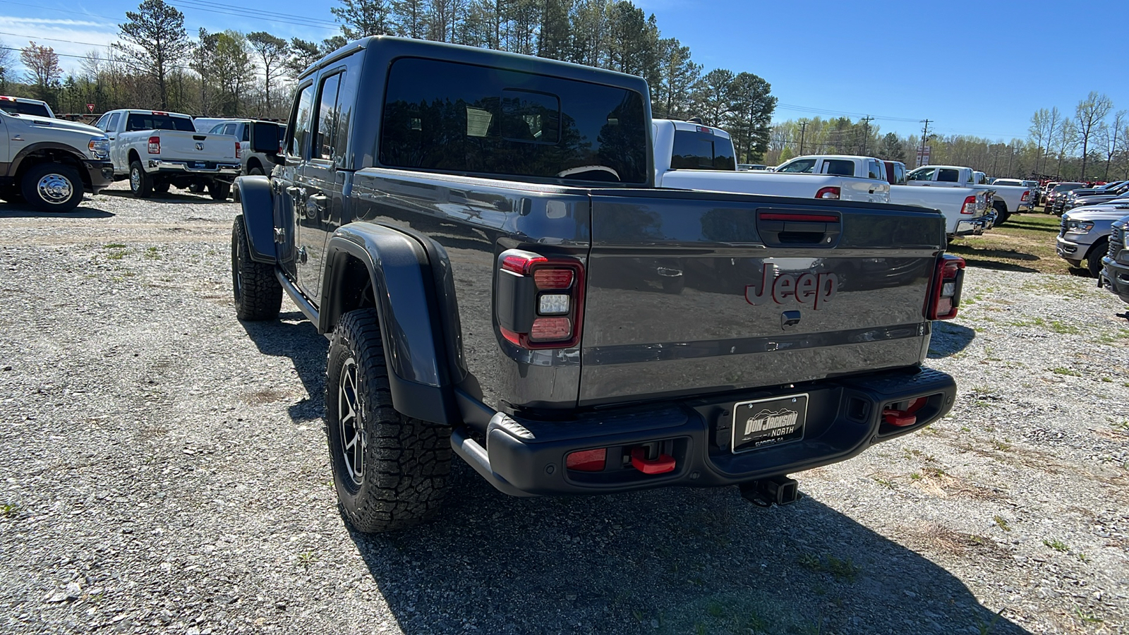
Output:
[[[139,1],[0,0],[0,41],[24,46],[36,40],[61,54],[81,55],[91,44],[114,41],[117,23]],[[307,40],[335,33],[332,0],[170,3],[184,12],[190,34],[201,26]],[[869,114],[883,131],[913,133],[928,118],[936,122],[930,131],[1009,140],[1026,136],[1036,108],[1058,106],[1073,114],[1091,90],[1109,95],[1115,110],[1129,110],[1129,84],[1118,79],[1129,62],[1119,34],[1129,18],[1124,0],[1088,2],[1085,15],[1073,20],[1061,19],[1061,3],[1045,0],[636,5],[655,14],[663,36],[689,45],[706,70],[728,68],[767,79],[780,102],[779,120]],[[1048,16],[1059,18],[1049,23]],[[77,62],[62,58],[67,69]]]

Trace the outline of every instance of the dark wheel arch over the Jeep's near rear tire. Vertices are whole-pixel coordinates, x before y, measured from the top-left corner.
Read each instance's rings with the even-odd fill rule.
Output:
[[[437,424],[462,420],[454,388],[466,377],[449,261],[438,244],[371,223],[329,240],[317,329],[376,308],[397,411]],[[430,247],[430,249],[429,249]]]

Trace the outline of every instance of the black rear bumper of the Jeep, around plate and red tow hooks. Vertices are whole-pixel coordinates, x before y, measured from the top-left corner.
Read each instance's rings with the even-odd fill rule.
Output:
[[[730,451],[733,406],[741,401],[806,393],[804,437],[742,453]],[[452,446],[497,489],[514,496],[612,494],[653,487],[717,487],[787,475],[850,459],[876,443],[920,429],[953,407],[956,383],[945,373],[908,368],[813,382],[788,390],[666,402],[585,412],[570,420],[535,420],[497,414],[483,445],[467,427]],[[927,398],[917,420],[893,426],[883,410]],[[481,433],[474,435],[481,438]],[[644,473],[632,449],[654,444],[674,458],[674,469]],[[602,471],[566,468],[566,455],[606,449]]]

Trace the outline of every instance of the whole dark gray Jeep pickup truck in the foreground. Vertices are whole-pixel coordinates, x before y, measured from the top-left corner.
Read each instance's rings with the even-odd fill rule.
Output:
[[[456,454],[515,496],[789,503],[788,473],[949,410],[937,211],[656,189],[650,121],[641,78],[435,42],[301,75],[279,164],[235,184],[234,297],[272,320],[285,290],[330,338],[355,529],[432,515]]]

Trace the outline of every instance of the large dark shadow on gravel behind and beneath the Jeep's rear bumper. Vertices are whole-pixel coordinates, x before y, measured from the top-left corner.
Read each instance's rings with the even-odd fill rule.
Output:
[[[517,499],[458,466],[438,521],[352,534],[409,635],[1027,633],[813,498],[761,510],[729,487]],[[961,557],[986,574],[1010,558],[995,543]]]

